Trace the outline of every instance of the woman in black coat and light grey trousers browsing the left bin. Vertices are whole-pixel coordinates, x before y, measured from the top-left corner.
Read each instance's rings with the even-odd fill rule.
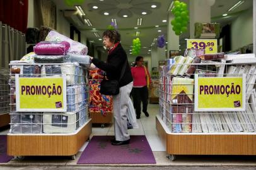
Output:
[[[132,90],[132,74],[127,55],[120,44],[120,34],[116,30],[107,30],[103,33],[103,45],[108,49],[107,62],[91,57],[91,62],[99,69],[106,72],[107,78],[119,81],[122,68],[125,67],[124,75],[120,79],[119,94],[113,96],[113,115],[115,139],[112,145],[129,144],[130,136],[127,130],[127,107],[128,99]]]

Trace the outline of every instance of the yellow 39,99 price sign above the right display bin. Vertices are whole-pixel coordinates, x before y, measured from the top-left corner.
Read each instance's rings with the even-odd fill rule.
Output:
[[[187,48],[203,49],[206,54],[216,54],[218,43],[216,39],[187,39]]]

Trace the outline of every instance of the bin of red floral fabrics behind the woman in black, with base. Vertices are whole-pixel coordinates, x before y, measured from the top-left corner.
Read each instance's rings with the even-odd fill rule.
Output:
[[[100,82],[104,72],[100,69],[90,71],[90,118],[93,124],[100,124],[102,128],[106,124],[113,123],[112,96],[100,94]]]

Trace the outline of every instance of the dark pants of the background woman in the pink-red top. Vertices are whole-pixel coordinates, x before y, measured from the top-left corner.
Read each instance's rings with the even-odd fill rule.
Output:
[[[133,105],[136,110],[136,115],[141,116],[141,101],[143,101],[143,112],[148,108],[148,88],[132,88]]]

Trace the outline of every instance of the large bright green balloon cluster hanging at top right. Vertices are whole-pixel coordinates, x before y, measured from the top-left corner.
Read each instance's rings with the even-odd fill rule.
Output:
[[[189,11],[187,10],[187,4],[180,3],[180,1],[175,1],[172,13],[175,16],[175,18],[171,21],[173,26],[172,30],[175,31],[175,35],[180,35],[187,31],[187,23],[189,22]]]

